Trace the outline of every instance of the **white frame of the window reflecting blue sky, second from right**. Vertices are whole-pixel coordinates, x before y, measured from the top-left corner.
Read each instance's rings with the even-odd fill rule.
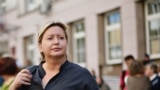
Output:
[[[108,25],[108,18],[107,16],[115,13],[115,12],[119,12],[120,14],[120,21],[119,23],[116,23],[114,25]],[[120,29],[120,34],[121,34],[121,56],[122,56],[122,53],[123,53],[123,48],[122,48],[122,28],[121,28],[121,13],[120,13],[120,10],[114,10],[114,11],[111,11],[111,12],[108,12],[108,13],[105,13],[104,14],[104,32],[105,32],[105,61],[108,65],[112,65],[112,64],[120,64],[122,63],[122,57],[119,58],[119,59],[110,59],[110,52],[109,52],[109,36],[108,36],[108,33],[111,32],[111,31],[115,31],[115,29]]]

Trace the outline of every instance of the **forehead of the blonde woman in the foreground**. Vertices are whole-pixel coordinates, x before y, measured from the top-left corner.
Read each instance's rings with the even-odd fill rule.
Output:
[[[64,35],[64,30],[59,26],[51,26],[45,31],[45,35]]]

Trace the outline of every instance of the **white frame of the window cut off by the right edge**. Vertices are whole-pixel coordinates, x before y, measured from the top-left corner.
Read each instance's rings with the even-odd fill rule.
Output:
[[[146,50],[147,50],[147,53],[149,53],[150,54],[150,58],[151,59],[157,59],[157,58],[160,58],[160,53],[159,54],[151,54],[151,48],[150,48],[150,35],[149,35],[149,25],[148,25],[148,23],[149,23],[149,21],[151,21],[151,20],[154,20],[154,19],[159,19],[159,24],[160,24],[160,12],[159,13],[157,13],[157,14],[151,14],[151,15],[149,15],[148,14],[148,3],[150,3],[150,2],[152,2],[152,1],[146,1],[145,2],[145,5],[144,5],[144,7],[145,7],[145,18],[146,18],[146,21],[145,21],[145,27],[146,27]]]

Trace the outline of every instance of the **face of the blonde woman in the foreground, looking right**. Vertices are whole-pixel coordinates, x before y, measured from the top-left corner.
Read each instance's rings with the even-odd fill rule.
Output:
[[[63,29],[59,26],[48,28],[43,35],[39,48],[45,57],[60,57],[66,55],[67,39]]]

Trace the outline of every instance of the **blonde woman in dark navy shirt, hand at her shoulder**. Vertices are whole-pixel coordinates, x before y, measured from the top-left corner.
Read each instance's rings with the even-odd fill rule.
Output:
[[[38,44],[44,59],[38,66],[18,73],[10,90],[98,90],[91,74],[67,60],[66,26],[51,22],[38,34]]]

